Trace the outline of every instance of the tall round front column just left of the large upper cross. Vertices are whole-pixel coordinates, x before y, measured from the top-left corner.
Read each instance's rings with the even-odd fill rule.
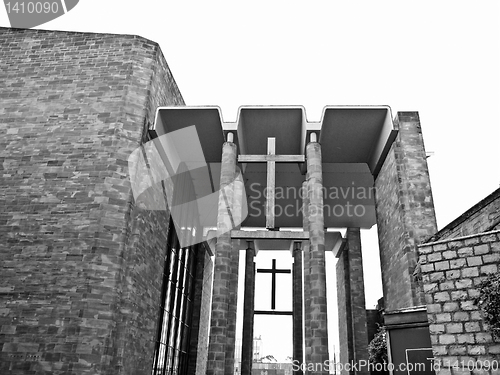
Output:
[[[228,336],[234,336],[236,322],[229,312],[230,281],[232,274],[231,256],[233,252],[231,243],[232,218],[228,205],[233,203],[234,172],[236,167],[236,145],[225,142],[222,147],[222,165],[220,178],[219,208],[217,216],[217,243],[215,245],[214,283],[212,297],[212,316],[210,321],[210,340],[208,345],[208,375],[224,375],[226,357],[234,363],[234,342],[232,354],[228,352]],[[230,207],[231,208],[231,207]],[[234,262],[234,260],[233,260]],[[233,332],[232,332],[233,331]],[[232,358],[231,358],[232,356]],[[231,369],[230,374],[233,374]]]

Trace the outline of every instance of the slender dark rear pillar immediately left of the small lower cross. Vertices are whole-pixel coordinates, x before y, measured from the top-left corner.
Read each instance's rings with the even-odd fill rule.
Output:
[[[245,258],[245,299],[243,301],[243,337],[241,345],[241,375],[252,374],[253,322],[255,301],[255,249],[248,242]]]

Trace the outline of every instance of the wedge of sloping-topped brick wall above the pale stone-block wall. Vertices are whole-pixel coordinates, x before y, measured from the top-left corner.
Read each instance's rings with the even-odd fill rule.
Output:
[[[429,241],[469,236],[495,229],[500,229],[500,189],[472,206],[432,236]]]

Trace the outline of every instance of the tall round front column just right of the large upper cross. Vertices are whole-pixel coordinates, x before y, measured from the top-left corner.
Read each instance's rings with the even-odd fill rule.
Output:
[[[309,198],[310,238],[310,301],[306,318],[311,324],[311,362],[325,363],[328,356],[328,324],[326,307],[325,228],[323,218],[323,171],[321,145],[310,142],[306,146],[307,195]],[[322,366],[315,366],[312,374],[327,374]],[[322,371],[323,370],[323,371]]]

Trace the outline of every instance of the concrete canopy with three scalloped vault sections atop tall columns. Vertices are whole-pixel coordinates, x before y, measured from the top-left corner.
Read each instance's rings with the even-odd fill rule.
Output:
[[[314,132],[323,157],[324,215],[327,228],[370,228],[376,222],[374,178],[394,141],[388,106],[327,106],[319,122],[308,122],[301,106],[242,106],[236,122],[224,122],[219,107],[160,107],[158,136],[194,125],[209,166],[210,184],[197,194],[219,189],[216,164],[228,132],[239,155],[266,155],[267,139],[276,139],[276,155],[304,155]],[[305,163],[276,163],[276,226],[302,227]],[[248,202],[247,227],[265,227],[266,163],[239,163]],[[195,176],[193,176],[195,177]],[[198,198],[198,197],[197,197]]]

